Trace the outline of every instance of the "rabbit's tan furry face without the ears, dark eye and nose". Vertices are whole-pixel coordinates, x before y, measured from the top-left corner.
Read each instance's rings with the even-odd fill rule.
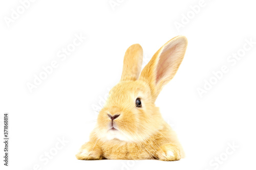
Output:
[[[160,117],[145,82],[122,81],[110,91],[99,112],[98,136],[103,140],[141,141],[159,129]]]

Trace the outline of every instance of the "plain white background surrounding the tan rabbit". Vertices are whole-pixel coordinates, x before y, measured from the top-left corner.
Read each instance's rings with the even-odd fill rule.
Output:
[[[25,1],[25,0],[22,0]],[[114,1],[116,2],[116,0]],[[198,13],[197,1],[35,1],[10,23],[19,1],[0,3],[0,113],[9,113],[9,166],[33,169],[253,169],[255,168],[256,44],[236,64],[246,39],[256,41],[253,1],[209,1]],[[189,22],[177,29],[184,15]],[[183,18],[184,19],[184,18]],[[183,22],[185,23],[185,22]],[[65,61],[57,53],[82,34],[87,39]],[[145,62],[169,39],[185,35],[187,52],[175,78],[158,96],[156,105],[178,133],[186,158],[158,160],[76,160],[97,118],[93,109],[120,79],[127,47],[140,43]],[[247,45],[248,47],[248,45]],[[27,83],[53,60],[52,74],[32,92]],[[228,72],[202,95],[204,80],[226,65]],[[3,130],[1,130],[3,137]],[[68,143],[49,162],[58,138]],[[228,143],[239,148],[227,155]],[[55,150],[56,151],[56,150]],[[221,157],[221,163],[215,158]],[[212,163],[215,163],[212,165]],[[36,169],[36,168],[35,168]]]

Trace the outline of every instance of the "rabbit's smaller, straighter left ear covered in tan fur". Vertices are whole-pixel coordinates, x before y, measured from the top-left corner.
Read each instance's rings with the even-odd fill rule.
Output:
[[[125,52],[121,81],[138,79],[143,60],[143,50],[140,44],[131,45]]]

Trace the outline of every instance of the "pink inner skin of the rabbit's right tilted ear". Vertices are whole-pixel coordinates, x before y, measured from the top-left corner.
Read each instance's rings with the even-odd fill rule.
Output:
[[[162,53],[160,54],[159,61],[157,64],[157,75],[156,84],[166,76],[168,77],[172,74],[172,67],[174,67],[177,55],[175,55],[177,44],[168,44],[164,47]]]

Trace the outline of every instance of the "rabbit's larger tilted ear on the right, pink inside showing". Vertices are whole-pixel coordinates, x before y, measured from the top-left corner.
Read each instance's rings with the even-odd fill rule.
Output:
[[[186,47],[186,37],[177,36],[166,42],[143,68],[139,79],[150,85],[154,102],[162,87],[175,76]]]

